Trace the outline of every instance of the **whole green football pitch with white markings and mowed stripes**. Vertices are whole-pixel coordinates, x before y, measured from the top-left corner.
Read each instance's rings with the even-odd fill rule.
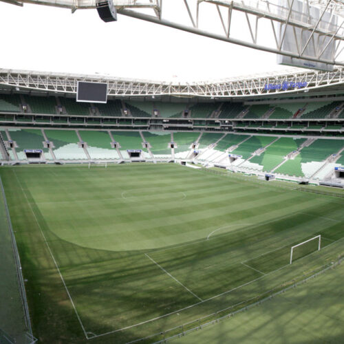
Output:
[[[158,341],[344,251],[344,199],[275,182],[177,164],[14,166],[0,175],[42,343]],[[290,248],[316,235],[321,250],[309,241],[289,264]]]

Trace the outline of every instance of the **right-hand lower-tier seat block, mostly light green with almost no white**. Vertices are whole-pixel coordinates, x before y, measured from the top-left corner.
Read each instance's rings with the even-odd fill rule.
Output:
[[[260,171],[270,172],[283,162],[286,155],[292,151],[296,151],[303,142],[305,142],[304,138],[279,138],[279,140],[272,143],[261,155],[256,155],[250,159],[250,164],[258,164],[259,167],[257,167]]]

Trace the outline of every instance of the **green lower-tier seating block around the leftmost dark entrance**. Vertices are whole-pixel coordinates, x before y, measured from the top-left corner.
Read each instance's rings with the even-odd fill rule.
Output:
[[[19,160],[26,160],[25,149],[42,149],[44,137],[39,129],[8,129],[13,141],[17,143]]]

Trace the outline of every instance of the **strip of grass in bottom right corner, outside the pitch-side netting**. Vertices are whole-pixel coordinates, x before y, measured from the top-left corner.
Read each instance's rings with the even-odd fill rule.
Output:
[[[176,344],[343,343],[344,264]]]

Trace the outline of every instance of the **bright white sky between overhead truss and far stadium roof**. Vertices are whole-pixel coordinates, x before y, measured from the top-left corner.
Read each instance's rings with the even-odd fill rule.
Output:
[[[177,10],[177,9],[175,9]],[[166,81],[286,70],[276,55],[96,10],[0,3],[0,67]]]

